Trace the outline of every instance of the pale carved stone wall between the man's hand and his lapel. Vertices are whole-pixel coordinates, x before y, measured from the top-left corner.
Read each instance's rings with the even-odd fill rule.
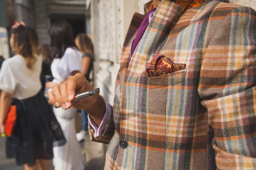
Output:
[[[104,99],[113,104],[122,44],[138,0],[92,0],[91,33],[95,48],[94,82]]]

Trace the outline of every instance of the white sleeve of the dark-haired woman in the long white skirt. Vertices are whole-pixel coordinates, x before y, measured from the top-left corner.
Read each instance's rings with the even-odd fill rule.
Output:
[[[67,56],[67,69],[71,74],[73,71],[80,71],[82,68],[82,56],[77,55],[75,51]]]

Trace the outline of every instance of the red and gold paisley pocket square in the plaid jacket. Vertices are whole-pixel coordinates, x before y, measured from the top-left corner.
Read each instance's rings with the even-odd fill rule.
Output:
[[[172,62],[160,53],[155,53],[151,62],[145,65],[148,77],[157,77],[165,74],[174,73],[186,68],[186,64],[177,64]]]

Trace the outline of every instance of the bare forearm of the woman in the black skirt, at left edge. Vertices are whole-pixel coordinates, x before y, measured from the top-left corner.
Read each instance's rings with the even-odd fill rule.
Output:
[[[2,91],[0,97],[0,124],[4,124],[12,102],[12,95]]]

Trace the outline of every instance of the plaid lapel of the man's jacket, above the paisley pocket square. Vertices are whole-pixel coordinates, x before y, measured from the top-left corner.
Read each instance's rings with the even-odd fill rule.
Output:
[[[163,47],[183,10],[172,0],[161,1],[128,65],[127,82],[140,79],[140,74],[145,71],[145,63],[150,62],[154,52]]]

